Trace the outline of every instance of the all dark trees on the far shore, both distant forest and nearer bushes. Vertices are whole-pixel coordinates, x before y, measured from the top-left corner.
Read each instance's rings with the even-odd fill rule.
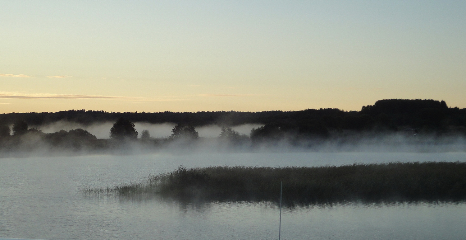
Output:
[[[82,129],[61,130],[45,134],[28,126],[40,126],[65,120],[84,125],[113,121],[110,139],[97,139]],[[172,135],[154,139],[148,131],[141,141],[160,146],[174,140],[199,138],[195,127],[217,125],[222,127],[219,140],[235,143],[254,143],[288,140],[292,144],[314,140],[328,140],[361,135],[363,133],[406,135],[430,134],[436,136],[466,137],[466,108],[448,107],[445,101],[432,99],[385,99],[374,105],[363,106],[361,111],[342,111],[335,108],[306,109],[302,111],[267,112],[196,112],[196,113],[107,113],[104,111],[69,110],[56,113],[3,113],[0,114],[0,149],[25,146],[45,140],[51,146],[64,149],[119,148],[121,140],[138,141],[134,122],[175,123]],[[249,136],[238,134],[234,126],[261,124]],[[10,130],[10,126],[13,126]],[[120,143],[115,143],[119,141]],[[34,146],[33,146],[34,145]],[[27,144],[26,144],[27,146]]]

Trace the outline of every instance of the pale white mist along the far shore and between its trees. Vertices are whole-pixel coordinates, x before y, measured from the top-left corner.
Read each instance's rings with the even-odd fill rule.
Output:
[[[43,126],[31,126],[46,134],[70,131],[82,128],[96,136],[99,141],[82,141],[82,146],[73,147],[76,143],[55,141],[55,145],[44,138],[25,134],[21,141],[11,143],[9,148],[0,151],[0,157],[10,156],[44,156],[44,155],[94,155],[94,154],[147,154],[165,153],[258,153],[258,152],[393,152],[393,153],[445,153],[465,152],[466,137],[462,135],[413,134],[409,131],[349,132],[327,138],[294,139],[283,136],[281,139],[254,140],[248,137],[251,129],[261,127],[259,124],[244,124],[231,127],[236,133],[243,134],[241,141],[219,138],[221,127],[215,125],[196,127],[199,139],[170,140],[175,124],[135,123],[139,139],[135,141],[110,141],[111,122],[82,125],[75,122],[57,121]],[[140,138],[143,130],[148,130],[151,138]],[[94,143],[95,142],[95,143]],[[74,145],[73,145],[74,144]],[[72,146],[73,145],[73,146]]]

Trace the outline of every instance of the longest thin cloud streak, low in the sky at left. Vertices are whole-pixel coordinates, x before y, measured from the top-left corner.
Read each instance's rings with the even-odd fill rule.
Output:
[[[185,99],[139,98],[123,96],[82,95],[82,94],[51,94],[30,92],[0,92],[0,99],[116,99],[139,101],[182,101]]]

